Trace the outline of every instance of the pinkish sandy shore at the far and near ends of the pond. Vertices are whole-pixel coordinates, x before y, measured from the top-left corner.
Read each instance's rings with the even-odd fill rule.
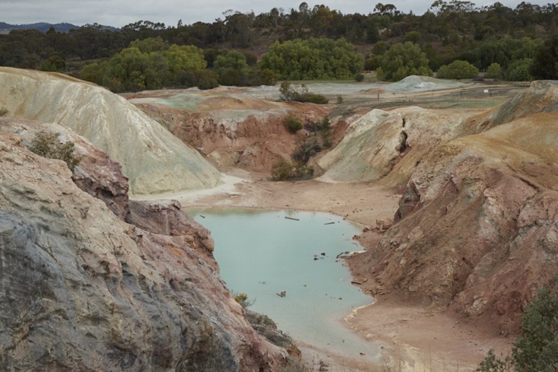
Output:
[[[331,212],[363,228],[373,228],[377,221],[393,218],[400,195],[371,183],[271,182],[264,174],[234,170],[215,189],[150,196],[153,198],[177,199],[184,208]],[[368,249],[377,238],[368,233],[359,242]],[[488,350],[507,354],[513,342],[469,326],[444,309],[414,307],[393,299],[381,299],[347,314],[346,322],[363,342],[381,343],[386,351],[382,360],[349,359],[334,350],[301,344],[310,371],[474,371]]]

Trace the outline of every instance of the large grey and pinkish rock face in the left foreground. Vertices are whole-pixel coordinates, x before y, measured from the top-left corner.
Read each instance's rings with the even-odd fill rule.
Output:
[[[257,336],[208,231],[174,203],[128,202],[103,156],[77,166],[84,192],[66,164],[0,125],[0,369],[280,371],[292,360]]]

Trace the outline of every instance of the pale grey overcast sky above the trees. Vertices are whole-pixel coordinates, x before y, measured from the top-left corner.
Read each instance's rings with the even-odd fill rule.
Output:
[[[359,1],[331,0],[321,2],[306,1],[310,9],[316,4],[329,6],[331,10],[340,10],[343,14],[368,14],[377,3],[391,3],[398,10],[416,15],[425,13],[435,0],[395,0],[395,1]],[[554,0],[552,0],[554,1]],[[449,1],[448,1],[449,2]],[[476,6],[486,6],[495,1],[472,1]],[[521,0],[500,0],[505,6],[515,8]],[[529,1],[544,5],[550,1]],[[36,22],[68,22],[77,26],[84,24],[103,24],[121,27],[126,24],[147,20],[163,22],[166,26],[176,26],[179,20],[183,24],[197,21],[213,22],[223,18],[227,9],[256,14],[269,12],[271,8],[283,8],[289,13],[291,8],[298,9],[301,0],[0,0],[0,22],[8,24],[29,24]]]

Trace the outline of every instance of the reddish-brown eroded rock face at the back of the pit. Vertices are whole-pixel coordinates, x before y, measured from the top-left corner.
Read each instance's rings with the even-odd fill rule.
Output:
[[[290,159],[306,138],[303,131],[293,135],[285,130],[282,120],[287,114],[306,123],[329,113],[319,104],[250,98],[242,88],[141,92],[126,97],[218,166],[249,171],[270,171],[278,160]]]

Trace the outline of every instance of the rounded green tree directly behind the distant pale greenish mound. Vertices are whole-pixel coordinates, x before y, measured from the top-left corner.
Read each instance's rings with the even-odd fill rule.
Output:
[[[387,82],[397,82],[409,75],[432,76],[426,54],[412,42],[395,44],[379,61],[377,77]]]

